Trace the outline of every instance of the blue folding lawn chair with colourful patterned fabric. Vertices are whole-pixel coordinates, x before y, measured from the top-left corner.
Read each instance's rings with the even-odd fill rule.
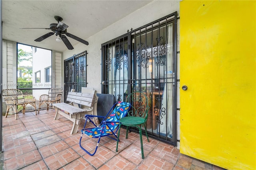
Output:
[[[84,124],[84,128],[81,130],[82,135],[81,135],[81,138],[79,141],[80,148],[82,148],[82,150],[84,150],[90,156],[93,156],[97,151],[101,137],[108,136],[109,138],[112,138],[117,141],[118,137],[117,137],[116,132],[119,128],[119,120],[127,115],[129,108],[130,108],[130,103],[117,102],[112,106],[112,108],[110,109],[110,111],[108,112],[106,117],[85,115],[86,121]],[[100,123],[100,125],[98,127],[94,124],[94,121],[93,121],[94,117],[104,118],[104,120]],[[94,125],[94,127],[85,128],[87,121],[90,121],[90,123],[92,123]],[[97,146],[92,154],[88,150],[86,150],[85,148],[83,148],[81,146],[81,140],[82,140],[83,134],[87,134],[91,138],[99,138]],[[114,135],[114,136],[112,136],[112,135]]]

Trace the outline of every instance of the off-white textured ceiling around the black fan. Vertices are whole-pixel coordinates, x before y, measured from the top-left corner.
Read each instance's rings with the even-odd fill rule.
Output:
[[[67,32],[86,40],[107,26],[150,3],[148,0],[2,0],[2,38],[56,51],[66,51],[63,42],[52,35],[41,42],[36,38],[52,32],[45,29],[63,18]],[[67,37],[70,43],[80,43]],[[89,42],[90,44],[90,42]]]

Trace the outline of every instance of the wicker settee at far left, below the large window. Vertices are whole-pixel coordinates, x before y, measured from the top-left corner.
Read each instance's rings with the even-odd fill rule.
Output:
[[[22,113],[25,113],[26,105],[30,104],[35,108],[36,112],[36,99],[33,95],[23,95],[22,91],[19,89],[5,89],[2,91],[2,95],[4,98],[4,102],[6,103],[6,114],[5,117],[8,116],[8,112],[10,108],[13,109],[15,114],[15,119],[18,119],[18,106],[22,106]],[[37,112],[36,112],[37,115]]]

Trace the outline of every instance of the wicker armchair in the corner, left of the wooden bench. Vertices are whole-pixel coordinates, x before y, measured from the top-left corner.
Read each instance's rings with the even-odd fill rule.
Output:
[[[48,95],[41,95],[39,98],[38,114],[44,103],[47,105],[47,111],[50,105],[50,107],[52,107],[52,103],[60,103],[62,92],[62,88],[52,88],[49,90]]]

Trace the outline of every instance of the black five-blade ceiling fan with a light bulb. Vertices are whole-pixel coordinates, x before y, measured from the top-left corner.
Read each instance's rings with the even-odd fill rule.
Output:
[[[52,30],[52,32],[48,32],[47,34],[44,34],[43,36],[37,38],[36,42],[41,42],[42,40],[52,36],[55,34],[57,36],[56,41],[60,42],[61,40],[64,42],[64,44],[68,47],[68,49],[74,49],[74,47],[71,45],[71,43],[68,41],[68,37],[73,38],[74,40],[77,40],[81,43],[84,43],[85,45],[88,45],[89,43],[77,36],[74,36],[67,32],[68,26],[61,22],[63,19],[60,16],[54,16],[55,20],[58,22],[50,24],[50,28],[22,28],[22,29],[46,29],[46,30]],[[66,34],[66,36],[64,35]]]

